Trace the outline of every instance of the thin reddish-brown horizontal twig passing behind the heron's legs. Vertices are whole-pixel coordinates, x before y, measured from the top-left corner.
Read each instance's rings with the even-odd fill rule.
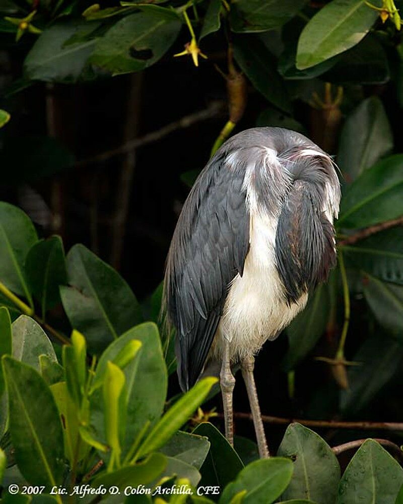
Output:
[[[223,414],[218,416],[223,418]],[[253,421],[251,413],[235,412],[235,418],[244,418]],[[300,423],[307,427],[323,427],[331,429],[358,429],[358,430],[403,430],[403,422],[345,422],[338,420],[306,420],[302,418],[282,418],[278,416],[262,415],[264,423],[277,425],[288,425],[289,423]]]

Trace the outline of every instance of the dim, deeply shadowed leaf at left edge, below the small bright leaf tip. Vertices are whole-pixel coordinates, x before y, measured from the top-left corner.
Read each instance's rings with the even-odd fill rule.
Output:
[[[4,183],[10,185],[20,185],[22,181],[34,182],[72,168],[75,164],[74,155],[69,149],[56,138],[44,135],[8,138],[0,151],[0,164],[15,166],[16,152],[18,169],[2,172]]]

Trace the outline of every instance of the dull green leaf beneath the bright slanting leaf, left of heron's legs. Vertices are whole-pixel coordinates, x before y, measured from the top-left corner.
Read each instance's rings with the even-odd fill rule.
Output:
[[[210,442],[206,437],[178,430],[160,451],[167,457],[173,457],[200,469],[209,450]]]

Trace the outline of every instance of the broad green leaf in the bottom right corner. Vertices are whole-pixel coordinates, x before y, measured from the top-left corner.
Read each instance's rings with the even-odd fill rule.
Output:
[[[373,439],[367,439],[351,459],[339,484],[337,504],[394,502],[403,483],[403,469]]]

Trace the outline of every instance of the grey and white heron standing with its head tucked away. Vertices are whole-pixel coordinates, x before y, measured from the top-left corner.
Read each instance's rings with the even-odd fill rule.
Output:
[[[179,383],[220,365],[233,443],[231,367],[239,363],[260,457],[268,456],[254,356],[304,308],[336,261],[340,184],[328,154],[303,135],[253,128],[225,142],[187,197],[165,274]]]

